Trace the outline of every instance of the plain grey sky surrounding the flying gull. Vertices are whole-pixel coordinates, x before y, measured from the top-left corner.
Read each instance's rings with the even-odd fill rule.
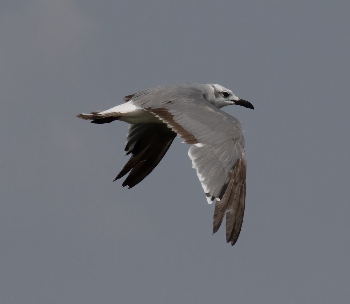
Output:
[[[0,2],[1,303],[348,303],[349,1]],[[174,141],[112,183],[127,124],[75,115],[218,83],[243,125],[235,246]]]

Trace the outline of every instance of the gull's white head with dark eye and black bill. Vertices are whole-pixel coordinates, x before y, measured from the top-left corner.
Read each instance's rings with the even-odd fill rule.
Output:
[[[254,110],[250,102],[238,98],[231,90],[224,88],[222,85],[210,83],[205,86],[208,90],[203,92],[203,97],[219,109],[226,105],[238,104]]]

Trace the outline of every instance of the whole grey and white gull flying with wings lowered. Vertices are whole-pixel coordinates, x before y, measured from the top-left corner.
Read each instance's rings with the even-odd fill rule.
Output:
[[[125,103],[77,117],[94,124],[129,123],[125,154],[131,154],[114,180],[130,172],[122,186],[132,188],[159,164],[174,138],[192,145],[188,156],[209,204],[215,202],[213,234],[226,214],[226,242],[237,242],[244,215],[246,153],[237,118],[226,105],[253,105],[219,84],[181,83],[125,96]]]

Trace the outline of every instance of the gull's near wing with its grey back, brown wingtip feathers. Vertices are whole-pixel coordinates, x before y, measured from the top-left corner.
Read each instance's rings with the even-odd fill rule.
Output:
[[[238,239],[245,206],[246,159],[239,121],[207,102],[200,88],[167,86],[135,94],[132,103],[154,113],[187,144],[209,203],[215,233],[226,214],[226,241]]]

